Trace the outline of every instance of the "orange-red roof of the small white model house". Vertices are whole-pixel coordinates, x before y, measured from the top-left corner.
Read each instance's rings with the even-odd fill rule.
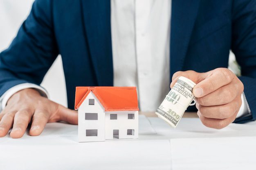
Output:
[[[92,92],[105,111],[137,111],[138,99],[136,87],[76,87],[75,110]]]

